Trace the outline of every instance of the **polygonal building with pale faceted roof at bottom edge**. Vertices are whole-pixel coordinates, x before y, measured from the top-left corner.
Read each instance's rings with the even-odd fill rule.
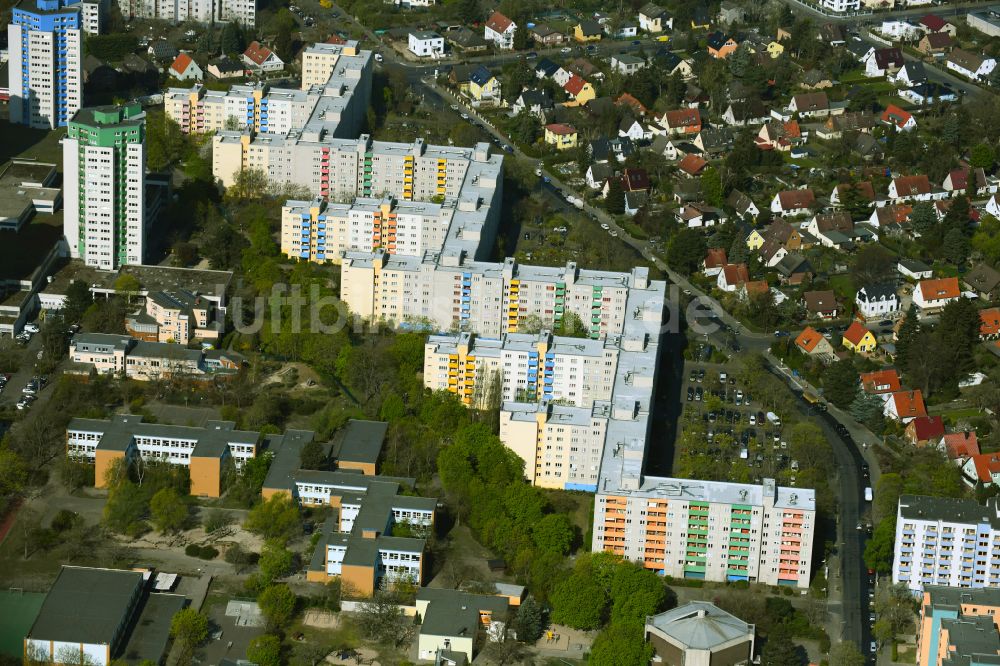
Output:
[[[754,626],[707,601],[692,601],[646,618],[656,663],[737,666],[753,658]]]

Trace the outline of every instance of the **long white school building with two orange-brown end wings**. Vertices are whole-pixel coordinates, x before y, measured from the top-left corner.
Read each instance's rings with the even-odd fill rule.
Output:
[[[289,431],[294,436],[302,431]],[[310,435],[312,433],[309,433]],[[140,458],[182,465],[191,472],[191,494],[219,497],[228,462],[236,469],[257,455],[261,434],[237,430],[231,421],[209,421],[203,428],[143,423],[142,417],[117,414],[110,420],[73,419],[66,427],[66,454],[94,463],[94,487],[107,487],[108,470],[118,460]]]

